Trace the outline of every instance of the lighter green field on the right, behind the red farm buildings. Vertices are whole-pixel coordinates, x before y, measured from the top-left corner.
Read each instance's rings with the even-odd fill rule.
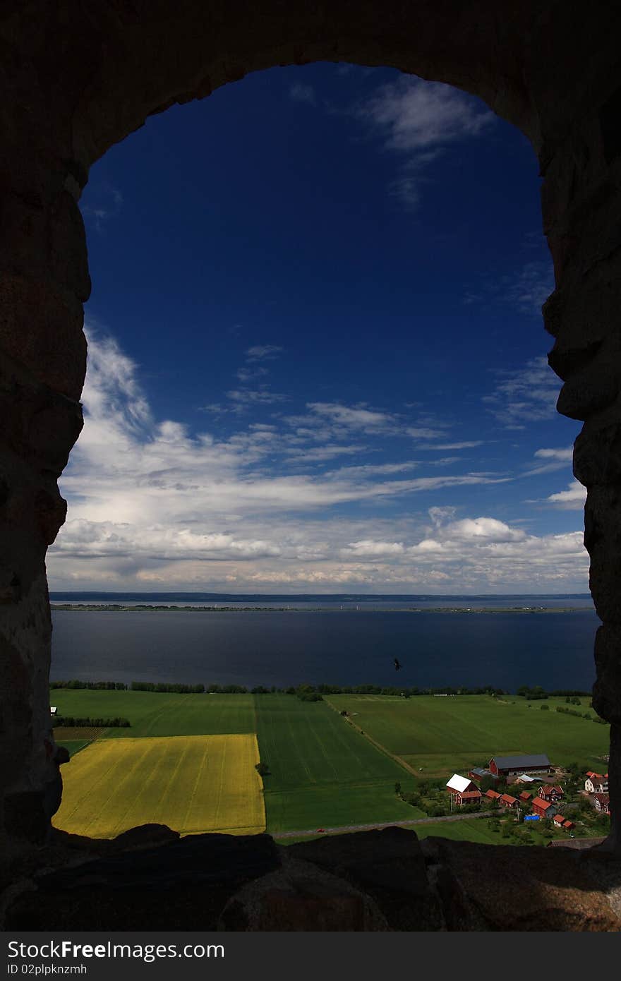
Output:
[[[553,710],[564,698],[500,701],[489,696],[330,696],[352,722],[421,776],[450,776],[493,755],[545,752],[554,765],[601,766],[608,752],[608,726]],[[585,699],[588,704],[589,699]],[[549,710],[542,711],[542,704]],[[587,704],[582,711],[587,711]],[[568,706],[575,707],[577,706]],[[595,717],[595,713],[592,712]]]

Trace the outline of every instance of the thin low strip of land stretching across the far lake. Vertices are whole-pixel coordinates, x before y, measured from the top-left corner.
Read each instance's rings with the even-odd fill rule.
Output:
[[[363,604],[362,609],[352,607],[328,609],[322,606],[187,606],[139,603],[124,606],[121,603],[51,603],[54,611],[82,613],[594,613],[588,606],[393,606],[374,610]]]

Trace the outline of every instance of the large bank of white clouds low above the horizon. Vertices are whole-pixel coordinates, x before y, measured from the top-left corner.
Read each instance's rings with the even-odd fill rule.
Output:
[[[273,416],[255,417],[226,439],[193,434],[155,418],[138,366],[114,339],[89,331],[88,343],[85,425],[61,480],[69,520],[48,554],[52,588],[328,591],[348,583],[380,592],[447,592],[449,584],[485,592],[502,582],[517,590],[520,577],[530,589],[529,566],[542,584],[551,577],[576,588],[581,533],[538,538],[490,515],[457,518],[456,505],[443,503],[416,516],[419,498],[426,508],[432,494],[507,477],[430,475],[412,459],[323,468],[384,445],[392,426],[403,435],[397,417],[314,402],[306,418],[317,425],[308,432]],[[321,442],[322,429],[366,436]],[[412,516],[387,509],[390,501],[407,502]],[[379,504],[392,517],[381,517]],[[342,505],[373,507],[354,520]]]

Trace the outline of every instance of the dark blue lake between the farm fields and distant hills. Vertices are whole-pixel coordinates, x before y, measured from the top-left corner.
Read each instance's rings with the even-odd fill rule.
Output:
[[[92,595],[78,599],[72,594],[71,601],[92,603]],[[172,603],[171,595],[97,598],[130,605]],[[53,602],[67,601],[68,594],[53,594]],[[177,602],[199,600],[184,597]],[[216,605],[210,599],[200,602]],[[303,682],[492,685],[511,692],[520,685],[589,691],[595,681],[593,645],[600,621],[589,596],[255,596],[250,601],[220,595],[217,603],[293,608],[53,610],[51,678],[248,688]],[[430,611],[447,604],[462,609],[537,606],[546,612]],[[412,612],[412,606],[420,612]],[[553,611],[567,606],[576,609]],[[393,657],[402,664],[398,674]]]

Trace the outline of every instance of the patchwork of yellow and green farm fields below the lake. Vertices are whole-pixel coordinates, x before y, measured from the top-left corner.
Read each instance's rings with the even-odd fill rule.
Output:
[[[397,783],[407,796],[419,786],[419,777],[445,780],[487,763],[493,754],[512,752],[546,752],[555,764],[576,761],[597,769],[608,751],[607,726],[554,711],[565,703],[551,697],[544,711],[542,701],[529,708],[523,698],[487,696],[348,695],[305,701],[276,693],[55,690],[54,703],[62,715],[121,716],[130,722],[129,729],[56,730],[57,741],[73,758],[63,767],[65,796],[55,823],[89,835],[113,835],[148,821],[184,834],[267,825],[279,835],[396,824],[425,814],[420,800],[412,806],[395,794]],[[339,714],[343,709],[347,717]],[[588,698],[580,711],[594,714]],[[94,741],[86,744],[89,737]],[[201,762],[209,740],[207,763]],[[244,776],[230,750],[235,741],[248,740],[254,756],[246,758]],[[218,741],[221,756],[215,755]],[[254,770],[257,753],[268,770],[262,791]],[[250,812],[236,817],[227,816],[241,807],[239,794],[234,798],[235,781],[238,787],[258,787],[258,798],[248,792],[254,800]],[[241,791],[242,798],[245,794]],[[259,816],[252,809],[256,800]],[[498,841],[485,819],[442,822],[433,831],[431,824],[418,828],[422,835]]]

